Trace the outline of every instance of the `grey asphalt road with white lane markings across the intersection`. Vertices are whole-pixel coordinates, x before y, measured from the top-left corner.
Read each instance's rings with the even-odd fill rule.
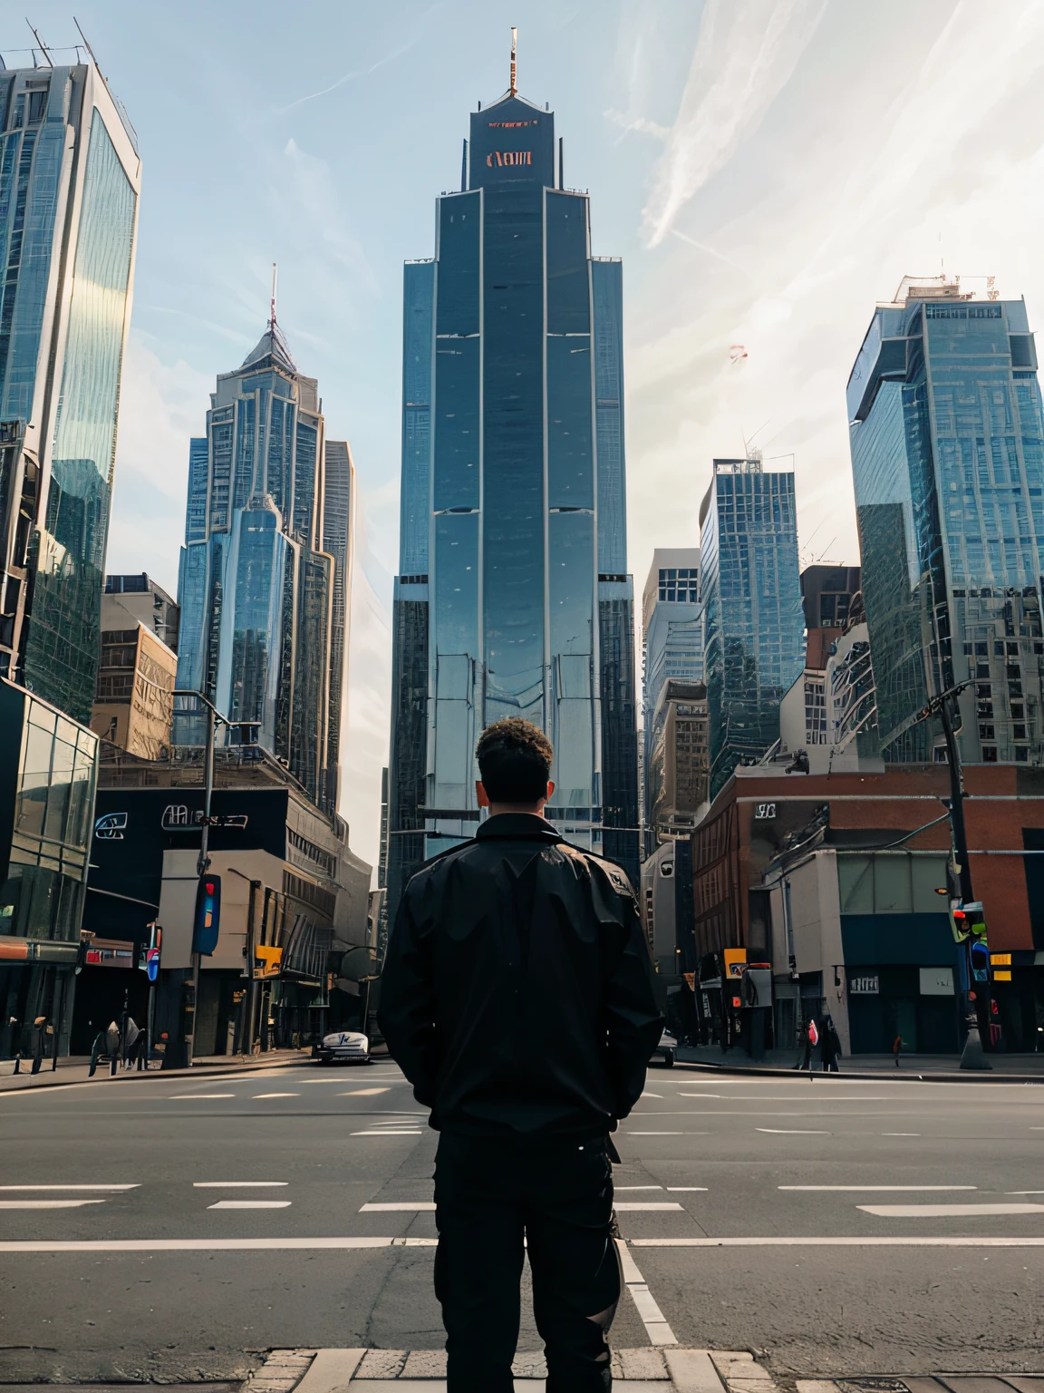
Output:
[[[387,1063],[0,1094],[0,1380],[441,1347],[436,1139]],[[615,1344],[1044,1371],[1044,1088],[654,1068],[617,1141]]]

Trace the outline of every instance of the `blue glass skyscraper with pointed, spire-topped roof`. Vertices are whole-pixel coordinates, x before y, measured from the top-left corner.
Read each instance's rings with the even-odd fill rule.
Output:
[[[217,379],[189,446],[178,687],[256,722],[309,797],[337,811],[354,468],[324,439],[319,384],[276,323]],[[200,744],[175,715],[174,740]]]

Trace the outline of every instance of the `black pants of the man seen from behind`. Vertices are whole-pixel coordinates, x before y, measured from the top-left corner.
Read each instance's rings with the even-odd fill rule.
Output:
[[[525,1234],[547,1393],[611,1387],[606,1332],[619,1300],[604,1142],[438,1139],[436,1295],[448,1393],[512,1393]]]

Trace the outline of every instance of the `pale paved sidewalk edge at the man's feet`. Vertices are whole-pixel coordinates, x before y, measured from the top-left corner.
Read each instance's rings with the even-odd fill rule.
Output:
[[[1041,1360],[1044,1364],[1044,1360]],[[543,1389],[543,1354],[515,1358],[515,1393]],[[441,1350],[273,1350],[242,1393],[444,1393]],[[851,1375],[844,1379],[788,1379],[796,1393],[1044,1393],[1037,1373]],[[781,1393],[780,1385],[746,1350],[688,1350],[679,1346],[612,1351],[618,1393]]]

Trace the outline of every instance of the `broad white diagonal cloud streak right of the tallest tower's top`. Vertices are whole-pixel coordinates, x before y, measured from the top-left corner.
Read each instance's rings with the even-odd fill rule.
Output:
[[[707,0],[678,118],[642,234],[656,247],[679,210],[764,120],[823,18],[825,0]]]

